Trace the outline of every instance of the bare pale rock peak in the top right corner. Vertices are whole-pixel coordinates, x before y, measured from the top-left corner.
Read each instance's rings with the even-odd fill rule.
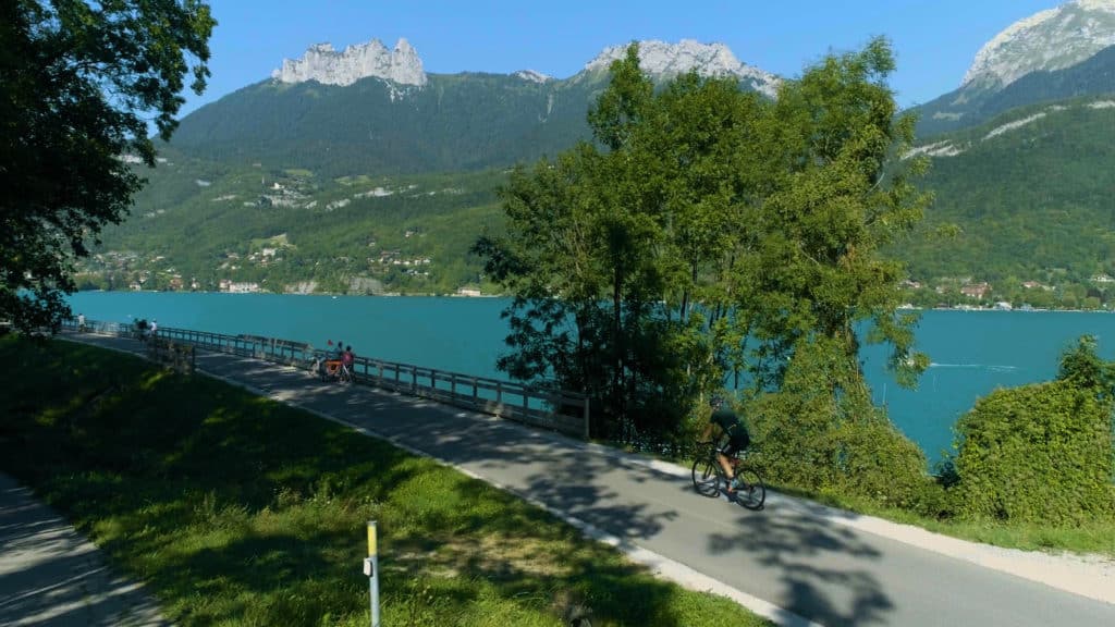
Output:
[[[1115,0],[1076,0],[1010,25],[976,55],[962,87],[999,89],[1032,71],[1064,69],[1115,46]]]

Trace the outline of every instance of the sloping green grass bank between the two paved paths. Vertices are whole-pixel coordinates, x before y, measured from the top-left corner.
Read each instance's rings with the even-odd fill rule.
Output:
[[[0,470],[180,625],[765,625],[437,463],[204,376],[0,338]]]

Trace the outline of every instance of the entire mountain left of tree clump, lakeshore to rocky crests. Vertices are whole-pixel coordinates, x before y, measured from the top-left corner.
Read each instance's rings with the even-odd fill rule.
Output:
[[[132,218],[106,229],[86,288],[256,283],[269,291],[452,293],[482,286],[468,247],[498,231],[510,165],[589,137],[626,46],[568,79],[427,74],[406,40],[312,46],[270,79],[185,117]],[[644,41],[648,74],[778,79],[727,47]],[[442,173],[442,174],[437,174]],[[491,287],[491,286],[487,286]],[[181,289],[181,288],[180,288]]]

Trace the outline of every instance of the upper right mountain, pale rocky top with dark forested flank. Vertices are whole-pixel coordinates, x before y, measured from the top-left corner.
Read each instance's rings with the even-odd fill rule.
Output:
[[[914,108],[918,134],[973,126],[1014,106],[1115,91],[1115,0],[1076,0],[1019,20],[976,55],[958,89]]]

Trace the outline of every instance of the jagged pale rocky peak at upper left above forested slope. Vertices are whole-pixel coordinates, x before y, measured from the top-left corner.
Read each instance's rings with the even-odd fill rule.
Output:
[[[318,44],[300,59],[283,59],[282,67],[271,73],[281,83],[317,80],[324,85],[351,85],[369,76],[400,85],[426,85],[421,59],[406,39],[399,39],[394,50],[378,39],[348,46],[342,52],[330,44]]]

